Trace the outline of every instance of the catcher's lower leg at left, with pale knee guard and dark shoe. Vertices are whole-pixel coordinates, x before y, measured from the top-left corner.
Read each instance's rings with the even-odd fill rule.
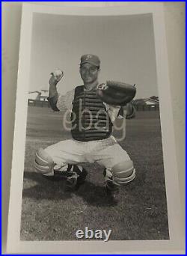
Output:
[[[43,148],[36,152],[34,167],[48,180],[66,180],[67,187],[76,189],[85,182],[87,171],[80,165],[56,165]]]

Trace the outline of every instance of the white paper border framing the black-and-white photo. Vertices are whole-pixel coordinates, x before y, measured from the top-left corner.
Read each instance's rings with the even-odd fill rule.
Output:
[[[25,159],[27,124],[27,94],[31,60],[31,31],[34,13],[79,16],[119,16],[153,14],[156,47],[156,71],[160,100],[162,147],[165,168],[165,185],[168,204],[170,240],[142,241],[20,241],[22,210],[22,183]],[[47,254],[160,254],[183,252],[180,190],[174,139],[174,122],[171,105],[171,88],[168,76],[168,55],[165,37],[165,19],[162,3],[129,3],[126,7],[54,7],[23,4],[19,49],[19,70],[16,91],[16,115],[13,138],[13,160],[10,182],[10,204],[7,230],[8,253]]]

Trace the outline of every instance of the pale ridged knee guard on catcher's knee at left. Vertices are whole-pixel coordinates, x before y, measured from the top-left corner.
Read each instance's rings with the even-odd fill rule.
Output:
[[[52,157],[46,153],[43,148],[37,150],[35,154],[34,168],[36,168],[37,172],[41,174],[49,174],[52,172],[55,163],[52,160]]]

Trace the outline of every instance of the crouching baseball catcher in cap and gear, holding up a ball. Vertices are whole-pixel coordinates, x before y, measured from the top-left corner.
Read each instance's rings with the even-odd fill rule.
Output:
[[[34,167],[46,177],[65,178],[67,186],[75,189],[88,174],[82,163],[97,162],[104,168],[105,188],[112,192],[135,178],[132,160],[111,135],[116,118],[135,116],[129,103],[135,97],[135,87],[122,82],[99,84],[99,65],[96,55],[82,55],[79,71],[84,85],[63,96],[56,88],[63,72],[51,74],[50,106],[54,111],[70,110],[73,138],[37,150]]]

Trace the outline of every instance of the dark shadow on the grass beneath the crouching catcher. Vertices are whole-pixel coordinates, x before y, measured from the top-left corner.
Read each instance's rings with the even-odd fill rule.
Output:
[[[41,199],[59,201],[70,199],[73,194],[97,207],[117,205],[115,198],[105,193],[104,186],[97,186],[90,181],[86,180],[79,189],[72,191],[66,188],[64,180],[52,181],[35,172],[25,171],[24,173],[23,198],[35,198],[38,201]]]

